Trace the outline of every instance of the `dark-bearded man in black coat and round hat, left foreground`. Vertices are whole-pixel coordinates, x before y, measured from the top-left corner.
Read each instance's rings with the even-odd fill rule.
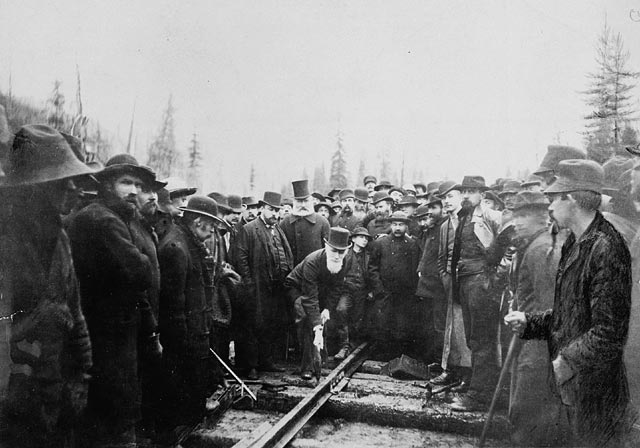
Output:
[[[133,156],[120,154],[96,177],[98,200],[69,224],[93,346],[85,429],[98,445],[131,443],[140,413],[139,358],[160,353],[148,302],[154,268],[132,230],[140,226],[137,196],[154,184],[155,175]]]

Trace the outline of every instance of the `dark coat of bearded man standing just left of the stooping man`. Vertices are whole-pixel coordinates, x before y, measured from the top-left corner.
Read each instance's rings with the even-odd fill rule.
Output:
[[[280,236],[285,254],[284,263],[290,271],[294,266],[293,254],[285,233],[277,225],[273,227],[273,231]],[[265,321],[283,318],[283,304],[273,303],[271,295],[274,281],[284,281],[284,278],[278,279],[275,272],[272,238],[264,221],[256,218],[240,229],[237,239],[236,268],[247,289],[246,294],[243,294],[243,300],[247,303],[242,308],[249,322],[257,326]]]

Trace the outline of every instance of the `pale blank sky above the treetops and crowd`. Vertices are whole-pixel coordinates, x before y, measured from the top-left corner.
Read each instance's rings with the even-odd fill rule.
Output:
[[[633,11],[632,11],[633,10]],[[169,94],[176,141],[199,135],[206,192],[279,190],[327,170],[340,129],[349,169],[389,150],[406,180],[488,182],[583,147],[580,91],[605,18],[640,70],[640,1],[0,0],[0,89],[72,106],[137,155]],[[640,90],[634,92],[640,109]],[[124,147],[121,148],[124,150]],[[418,179],[415,179],[418,180]]]

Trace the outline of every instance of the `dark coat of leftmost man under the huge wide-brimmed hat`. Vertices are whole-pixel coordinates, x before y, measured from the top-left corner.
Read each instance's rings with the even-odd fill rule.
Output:
[[[0,322],[2,339],[8,336],[0,344],[10,349],[0,372],[11,370],[4,415],[14,443],[62,446],[82,404],[70,392],[84,387],[91,344],[60,221],[43,222],[35,213],[21,218],[0,234],[0,315],[13,315]]]

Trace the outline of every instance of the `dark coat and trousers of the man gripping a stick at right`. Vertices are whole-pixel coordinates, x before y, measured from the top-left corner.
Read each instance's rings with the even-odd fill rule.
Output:
[[[546,339],[573,376],[558,390],[575,411],[583,445],[615,444],[626,428],[629,391],[623,350],[631,307],[631,259],[599,212],[579,240],[562,247],[552,310],[527,314],[524,339]]]

